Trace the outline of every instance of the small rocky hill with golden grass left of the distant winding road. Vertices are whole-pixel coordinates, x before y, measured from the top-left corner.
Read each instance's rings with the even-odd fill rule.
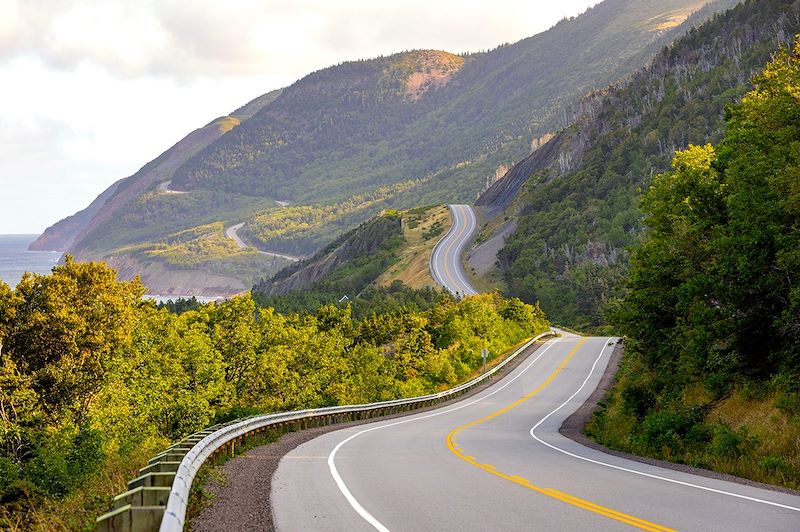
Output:
[[[348,304],[363,317],[390,308],[428,308],[442,295],[430,274],[430,253],[450,223],[444,205],[382,212],[313,257],[256,283],[253,297],[279,312]]]

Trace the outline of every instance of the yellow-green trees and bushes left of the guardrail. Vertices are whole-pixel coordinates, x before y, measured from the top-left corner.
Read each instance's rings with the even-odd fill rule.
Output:
[[[84,529],[150,455],[215,420],[447,388],[546,330],[496,294],[356,320],[283,315],[249,296],[142,301],[138,280],[67,259],[0,283],[0,527]],[[428,304],[429,303],[429,304]]]

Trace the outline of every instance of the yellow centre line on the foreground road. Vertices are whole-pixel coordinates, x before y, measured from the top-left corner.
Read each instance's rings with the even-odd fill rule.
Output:
[[[582,509],[587,510],[589,512],[596,513],[598,515],[602,515],[604,517],[608,517],[609,519],[614,519],[616,521],[620,521],[622,523],[626,523],[628,525],[634,526],[636,528],[640,528],[642,530],[652,530],[652,531],[657,531],[657,532],[672,532],[671,528],[667,528],[665,526],[658,525],[656,523],[651,523],[650,521],[645,521],[644,519],[639,519],[638,517],[634,517],[632,515],[628,515],[628,514],[625,514],[625,513],[622,513],[622,512],[618,512],[617,510],[613,510],[611,508],[606,508],[605,506],[600,506],[599,504],[595,504],[595,503],[593,503],[591,501],[580,499],[580,498],[575,497],[573,495],[570,495],[568,493],[564,493],[564,492],[561,492],[561,491],[558,491],[558,490],[555,490],[555,489],[552,489],[552,488],[540,488],[539,486],[535,486],[535,485],[531,484],[528,479],[523,478],[523,477],[521,477],[519,475],[508,475],[506,473],[498,471],[497,468],[495,468],[494,466],[491,466],[489,464],[482,464],[482,463],[478,462],[473,456],[470,456],[470,455],[464,453],[461,450],[461,448],[455,443],[455,437],[462,430],[470,428],[470,427],[474,427],[474,426],[479,425],[479,424],[481,424],[481,423],[483,423],[485,421],[489,421],[490,419],[494,419],[494,418],[496,418],[498,416],[501,416],[501,415],[505,414],[506,412],[508,412],[509,410],[511,410],[513,408],[516,408],[517,406],[521,405],[525,401],[529,400],[530,398],[532,398],[534,395],[536,395],[540,391],[542,391],[545,387],[547,387],[548,384],[550,384],[550,382],[552,382],[552,380],[556,377],[556,375],[558,375],[559,372],[561,372],[561,370],[564,368],[564,366],[567,365],[567,362],[569,362],[569,360],[572,358],[572,356],[578,351],[580,346],[585,341],[586,341],[586,338],[583,338],[582,340],[580,340],[575,345],[575,347],[567,354],[567,356],[564,358],[564,360],[561,361],[561,364],[559,364],[559,366],[555,369],[555,371],[553,371],[553,373],[551,373],[550,376],[548,376],[547,379],[545,379],[545,381],[542,384],[540,384],[539,386],[537,386],[536,389],[533,390],[532,392],[530,392],[530,393],[526,394],[525,396],[517,399],[513,403],[501,408],[500,410],[497,410],[496,412],[492,412],[491,414],[480,418],[477,421],[472,421],[470,423],[466,423],[464,425],[460,425],[460,426],[454,428],[453,430],[451,430],[450,433],[447,435],[447,440],[446,440],[447,441],[447,447],[448,447],[448,449],[450,449],[450,451],[453,454],[455,454],[456,456],[458,456],[459,458],[461,458],[462,460],[464,460],[468,464],[471,464],[471,465],[473,465],[473,466],[475,466],[475,467],[477,467],[479,469],[482,469],[482,470],[486,471],[487,473],[490,473],[490,474],[495,475],[497,477],[500,477],[500,478],[506,479],[506,480],[508,480],[510,482],[513,482],[514,484],[518,484],[520,486],[524,486],[524,487],[526,487],[526,488],[528,488],[530,490],[533,490],[533,491],[535,491],[537,493],[541,493],[542,495],[547,495],[548,497],[552,497],[553,499],[565,502],[567,504],[570,504],[572,506],[576,506],[578,508],[582,508]]]

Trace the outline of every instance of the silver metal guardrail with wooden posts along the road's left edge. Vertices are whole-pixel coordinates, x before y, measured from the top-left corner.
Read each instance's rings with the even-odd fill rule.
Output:
[[[536,341],[555,334],[551,330],[528,340],[491,370],[442,392],[379,403],[258,415],[192,434],[153,457],[140,470],[140,476],[128,482],[128,491],[115,497],[114,510],[97,518],[97,529],[113,532],[180,532],[186,520],[192,481],[200,467],[220,452],[233,456],[235,447],[247,436],[269,429],[302,430],[368,419],[447,401],[490,379]]]

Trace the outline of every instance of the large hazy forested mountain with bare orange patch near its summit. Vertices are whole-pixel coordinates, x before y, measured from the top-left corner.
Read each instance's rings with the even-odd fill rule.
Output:
[[[310,255],[381,209],[472,201],[563,127],[582,95],[710,16],[689,19],[705,3],[606,0],[489,52],[416,50],[312,73],[123,180],[73,224],[74,238],[62,223],[36,245],[60,232],[81,259],[119,259],[222,222],[244,223],[262,250]]]

